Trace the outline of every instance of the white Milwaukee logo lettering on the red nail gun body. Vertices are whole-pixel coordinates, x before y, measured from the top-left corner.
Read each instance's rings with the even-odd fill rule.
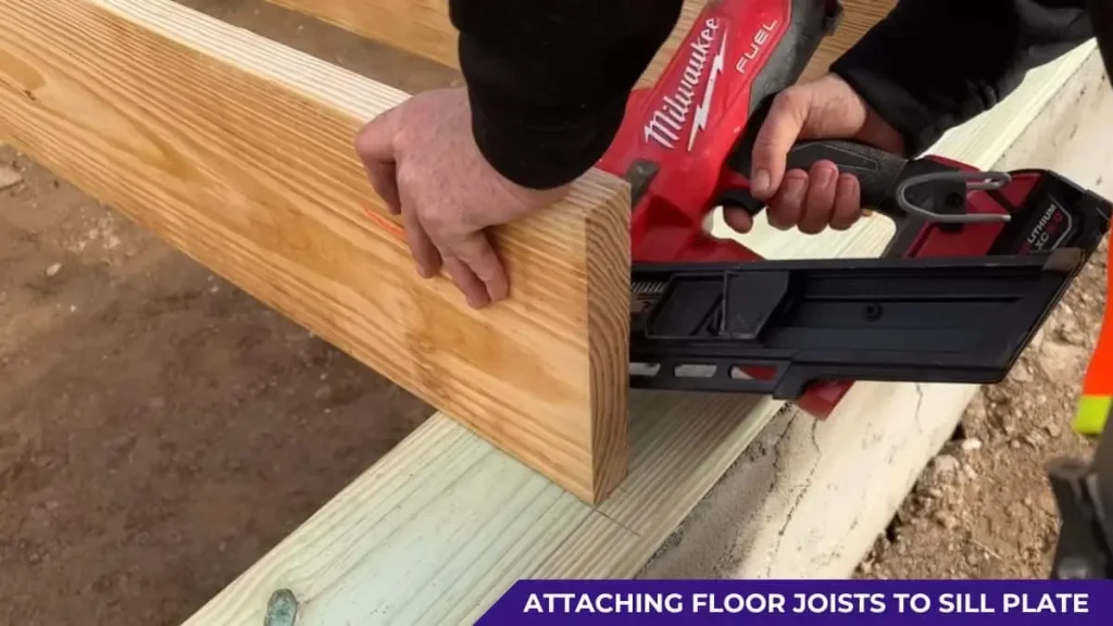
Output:
[[[688,149],[691,150],[696,134],[707,125],[708,109],[715,90],[715,77],[722,71],[723,51],[727,46],[726,35],[718,49],[715,47],[721,23],[719,18],[709,18],[703,28],[689,43],[688,62],[672,94],[661,98],[661,104],[643,128],[646,141],[672,149],[680,141],[689,117],[695,117],[688,136]],[[713,55],[713,57],[712,57]],[[711,66],[710,72],[707,71]],[[698,94],[705,74],[709,74],[707,87],[702,97]],[[692,109],[695,107],[695,116]]]

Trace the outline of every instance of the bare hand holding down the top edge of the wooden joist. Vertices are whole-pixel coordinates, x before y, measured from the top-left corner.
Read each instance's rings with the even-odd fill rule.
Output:
[[[476,309],[510,294],[485,229],[567,192],[529,189],[495,172],[475,145],[463,88],[418,94],[383,113],[359,130],[356,151],[372,186],[402,215],[418,273],[429,278],[443,267]]]

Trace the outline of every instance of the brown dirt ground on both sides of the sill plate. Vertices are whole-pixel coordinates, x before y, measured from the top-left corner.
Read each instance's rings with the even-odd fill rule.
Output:
[[[268,6],[185,2],[410,91],[456,77]],[[869,577],[1042,577],[1043,464],[1104,302],[1103,251],[986,390]],[[0,624],[178,624],[431,409],[0,147]]]

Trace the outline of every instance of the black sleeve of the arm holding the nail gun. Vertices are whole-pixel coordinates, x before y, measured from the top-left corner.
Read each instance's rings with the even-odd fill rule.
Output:
[[[899,0],[830,69],[918,154],[1091,37],[1085,0]]]

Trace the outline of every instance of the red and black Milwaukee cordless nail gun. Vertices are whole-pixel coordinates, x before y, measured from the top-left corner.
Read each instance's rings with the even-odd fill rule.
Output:
[[[709,3],[599,166],[632,187],[630,384],[769,393],[826,418],[854,381],[999,382],[1109,232],[1113,206],[1044,170],[982,173],[849,141],[830,159],[896,223],[880,258],[765,261],[703,229],[749,195],[754,135],[838,0]],[[754,263],[755,261],[760,261]]]

